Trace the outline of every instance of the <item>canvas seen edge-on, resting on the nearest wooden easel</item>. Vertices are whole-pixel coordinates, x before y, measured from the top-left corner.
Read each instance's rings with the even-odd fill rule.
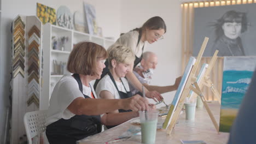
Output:
[[[163,129],[166,129],[168,125],[171,122],[173,112],[176,110],[177,104],[179,102],[179,98],[181,98],[182,92],[184,90],[185,84],[187,83],[188,77],[190,75],[190,72],[193,68],[193,65],[195,64],[196,59],[194,57],[189,58],[189,62],[187,66],[185,67],[184,74],[181,79],[181,83],[179,83],[177,92],[172,100],[172,104],[170,106],[170,109],[168,110],[168,114],[166,116],[165,122],[162,126]]]

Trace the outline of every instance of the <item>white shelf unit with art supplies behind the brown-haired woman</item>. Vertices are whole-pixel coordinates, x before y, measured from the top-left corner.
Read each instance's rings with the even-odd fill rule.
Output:
[[[114,44],[115,40],[90,35],[87,33],[63,28],[50,23],[43,26],[43,99],[40,101],[40,110],[49,107],[51,93],[56,83],[63,75],[71,75],[67,71],[66,64],[73,46],[81,41],[91,41],[102,45],[106,49]]]

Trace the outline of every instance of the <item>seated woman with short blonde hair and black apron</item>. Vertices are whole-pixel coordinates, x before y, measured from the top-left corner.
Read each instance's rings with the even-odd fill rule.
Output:
[[[125,79],[126,74],[130,71],[130,65],[133,64],[135,56],[130,49],[121,45],[113,45],[108,49],[109,71],[99,82],[96,87],[96,94],[102,99],[126,99],[131,98],[132,93],[129,89],[128,81]],[[138,96],[135,95],[136,97]],[[138,112],[131,110],[114,110],[109,113],[123,113],[123,117],[131,119],[138,116]],[[107,125],[112,128],[113,125]]]

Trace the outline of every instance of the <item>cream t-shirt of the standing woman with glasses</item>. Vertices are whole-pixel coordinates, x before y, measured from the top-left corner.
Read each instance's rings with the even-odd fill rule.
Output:
[[[138,31],[130,31],[128,33],[125,33],[121,35],[121,37],[114,43],[114,45],[119,44],[119,45],[124,45],[126,47],[129,47],[137,57],[141,57],[142,47],[146,43],[140,40],[137,46],[138,35],[139,35]],[[146,45],[144,46],[144,48],[145,47]]]

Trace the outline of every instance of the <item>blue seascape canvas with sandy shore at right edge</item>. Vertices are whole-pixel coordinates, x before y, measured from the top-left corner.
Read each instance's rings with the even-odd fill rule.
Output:
[[[230,131],[255,67],[256,57],[224,57],[219,131]]]

